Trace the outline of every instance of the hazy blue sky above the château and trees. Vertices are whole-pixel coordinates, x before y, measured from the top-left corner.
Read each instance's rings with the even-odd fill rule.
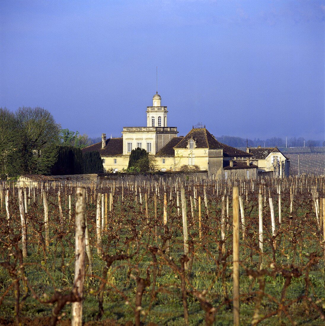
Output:
[[[0,106],[120,137],[168,125],[324,140],[324,1],[0,1]]]

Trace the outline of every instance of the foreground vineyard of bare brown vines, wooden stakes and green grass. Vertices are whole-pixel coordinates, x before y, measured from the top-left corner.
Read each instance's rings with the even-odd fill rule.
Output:
[[[0,324],[70,325],[72,303],[85,325],[323,325],[324,197],[304,175],[3,182]]]

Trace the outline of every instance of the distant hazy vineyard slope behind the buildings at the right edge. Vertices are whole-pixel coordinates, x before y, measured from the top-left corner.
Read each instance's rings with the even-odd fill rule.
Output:
[[[290,158],[290,174],[298,174],[298,154],[286,154]],[[300,173],[325,175],[325,153],[304,153],[299,155]]]

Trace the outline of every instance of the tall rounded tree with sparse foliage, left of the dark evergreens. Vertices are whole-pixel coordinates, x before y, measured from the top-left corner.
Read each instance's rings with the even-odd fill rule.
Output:
[[[40,107],[22,107],[15,112],[24,173],[50,172],[57,156],[60,125]]]

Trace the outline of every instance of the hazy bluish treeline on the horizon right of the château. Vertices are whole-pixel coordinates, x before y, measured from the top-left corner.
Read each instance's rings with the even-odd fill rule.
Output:
[[[268,139],[259,139],[255,138],[254,140],[248,139],[246,142],[246,138],[234,137],[234,136],[220,136],[216,137],[216,139],[226,145],[233,147],[246,147],[248,142],[248,146],[250,147],[286,147],[286,139],[282,139],[279,137],[273,137]],[[305,143],[304,143],[305,142]],[[291,137],[287,139],[287,147],[318,147],[325,146],[325,141],[315,141],[315,140],[305,140],[303,137]]]

